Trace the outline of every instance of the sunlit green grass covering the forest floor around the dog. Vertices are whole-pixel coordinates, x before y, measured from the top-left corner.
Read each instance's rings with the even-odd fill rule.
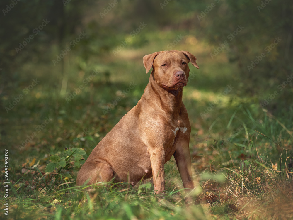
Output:
[[[251,94],[246,82],[235,77],[237,67],[223,62],[223,57],[211,63],[206,44],[200,42],[190,45],[183,40],[173,48],[189,50],[197,56],[200,66],[197,70],[190,65],[190,71],[196,75],[185,87],[183,97],[192,126],[190,152],[197,185],[194,193],[201,202],[200,207],[186,204],[173,158],[165,165],[166,194],[162,197],[155,196],[150,181],[134,187],[121,183],[82,190],[75,186],[79,168],[74,162],[62,171],[72,178],[54,176],[57,171],[45,173],[50,155],[62,157],[64,148],[84,148],[86,159],[120,118],[136,105],[149,79],[142,57],[164,50],[162,42],[174,40],[168,31],[155,34],[161,36],[161,41],[154,43],[151,40],[154,35],[146,35],[148,42],[152,42],[148,47],[136,49],[130,45],[117,57],[96,56],[84,63],[78,53],[68,55],[69,63],[64,66],[68,74],[65,96],[60,96],[61,65],[28,62],[13,73],[17,80],[7,85],[6,94],[1,96],[4,107],[23,94],[22,90],[33,79],[40,82],[11,111],[1,110],[1,149],[9,150],[11,219],[292,218],[289,208],[292,207],[292,176],[288,173],[288,179],[286,173],[292,158],[292,104],[284,107],[285,97],[280,93],[267,108],[260,108],[260,101],[278,83],[271,87],[259,85],[258,95]],[[191,37],[193,33],[184,35]],[[189,49],[191,46],[193,50]],[[93,69],[100,71],[100,75],[84,84],[83,80]],[[126,90],[130,82],[137,85],[122,96],[119,91]],[[230,84],[234,88],[219,100],[218,96]],[[80,85],[84,88],[67,103],[65,98],[69,92]],[[290,86],[286,89],[286,94],[292,95]],[[103,110],[117,97],[121,101],[104,114]],[[214,101],[217,104],[202,117],[200,113]],[[280,107],[274,109],[274,104]],[[36,128],[46,117],[52,121],[38,132]],[[21,146],[33,132],[36,136]],[[2,153],[1,161],[4,161]],[[2,196],[0,201],[4,204]]]

